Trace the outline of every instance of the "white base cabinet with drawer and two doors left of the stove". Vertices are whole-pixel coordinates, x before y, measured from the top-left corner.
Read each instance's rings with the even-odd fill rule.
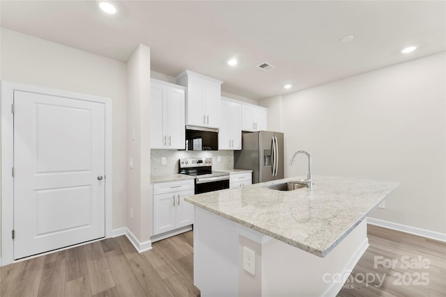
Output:
[[[153,235],[194,223],[194,207],[184,198],[194,195],[194,180],[153,185]]]

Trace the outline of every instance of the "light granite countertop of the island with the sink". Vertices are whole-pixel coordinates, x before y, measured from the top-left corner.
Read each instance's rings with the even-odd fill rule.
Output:
[[[291,246],[325,257],[398,182],[313,175],[313,188],[263,188],[291,177],[192,195],[185,201]]]

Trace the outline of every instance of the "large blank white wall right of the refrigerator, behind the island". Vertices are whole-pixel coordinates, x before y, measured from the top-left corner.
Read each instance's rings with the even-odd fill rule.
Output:
[[[268,117],[286,123],[286,161],[307,150],[314,174],[401,182],[371,217],[445,233],[445,65],[443,52],[282,96]],[[306,170],[300,156],[285,175]]]

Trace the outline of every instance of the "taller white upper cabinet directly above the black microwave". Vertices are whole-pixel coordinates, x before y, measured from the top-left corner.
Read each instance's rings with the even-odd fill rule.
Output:
[[[186,90],[186,125],[220,128],[220,101],[222,81],[185,70],[178,84]]]

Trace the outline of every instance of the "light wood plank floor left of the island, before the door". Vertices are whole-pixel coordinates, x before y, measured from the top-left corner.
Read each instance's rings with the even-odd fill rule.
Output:
[[[199,296],[193,233],[139,254],[127,237],[104,239],[0,268],[0,296]]]

